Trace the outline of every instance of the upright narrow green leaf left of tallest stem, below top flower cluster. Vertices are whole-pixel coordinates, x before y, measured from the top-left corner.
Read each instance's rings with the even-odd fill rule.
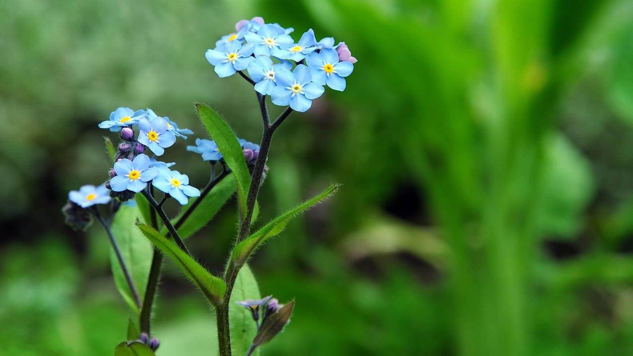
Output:
[[[218,145],[224,158],[224,162],[234,173],[237,182],[237,200],[242,217],[246,216],[246,197],[251,185],[251,175],[246,166],[242,146],[237,141],[235,132],[229,124],[208,105],[196,104],[200,121],[209,132],[209,135]]]

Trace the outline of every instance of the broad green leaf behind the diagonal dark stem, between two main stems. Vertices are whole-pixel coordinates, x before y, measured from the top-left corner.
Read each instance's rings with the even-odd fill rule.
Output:
[[[184,224],[178,228],[180,238],[186,239],[192,236],[196,231],[205,226],[216,213],[229,201],[231,196],[235,193],[235,182],[231,175],[224,177],[222,181],[218,182],[213,189],[207,194],[196,209],[189,215]],[[137,194],[139,196],[140,194]],[[142,196],[142,195],[141,195]],[[143,197],[143,199],[145,199]],[[180,214],[172,219],[172,224],[176,224],[182,214],[194,203],[194,199],[190,199],[189,203],[182,207]],[[163,236],[167,233],[167,228],[161,229]]]

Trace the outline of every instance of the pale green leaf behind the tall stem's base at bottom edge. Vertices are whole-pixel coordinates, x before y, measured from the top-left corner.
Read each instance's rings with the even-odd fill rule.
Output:
[[[229,320],[231,329],[231,348],[234,355],[246,355],[248,348],[257,334],[257,326],[251,312],[236,302],[247,299],[260,299],[260,288],[253,276],[253,272],[244,265],[237,274],[235,285],[229,302]],[[257,355],[258,351],[253,355]]]

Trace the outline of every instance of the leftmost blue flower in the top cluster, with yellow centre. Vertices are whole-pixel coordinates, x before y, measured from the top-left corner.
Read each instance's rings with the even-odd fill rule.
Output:
[[[238,70],[245,70],[255,58],[251,56],[255,45],[242,44],[239,41],[228,42],[222,48],[207,49],[204,56],[215,66],[215,72],[220,78],[229,77]]]

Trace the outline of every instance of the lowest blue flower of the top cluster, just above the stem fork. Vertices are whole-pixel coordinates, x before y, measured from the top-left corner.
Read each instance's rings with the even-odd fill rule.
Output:
[[[275,72],[277,86],[270,97],[275,105],[290,105],[292,110],[303,112],[310,108],[312,100],[323,94],[325,89],[312,82],[310,69],[302,64],[294,72],[279,68]]]

